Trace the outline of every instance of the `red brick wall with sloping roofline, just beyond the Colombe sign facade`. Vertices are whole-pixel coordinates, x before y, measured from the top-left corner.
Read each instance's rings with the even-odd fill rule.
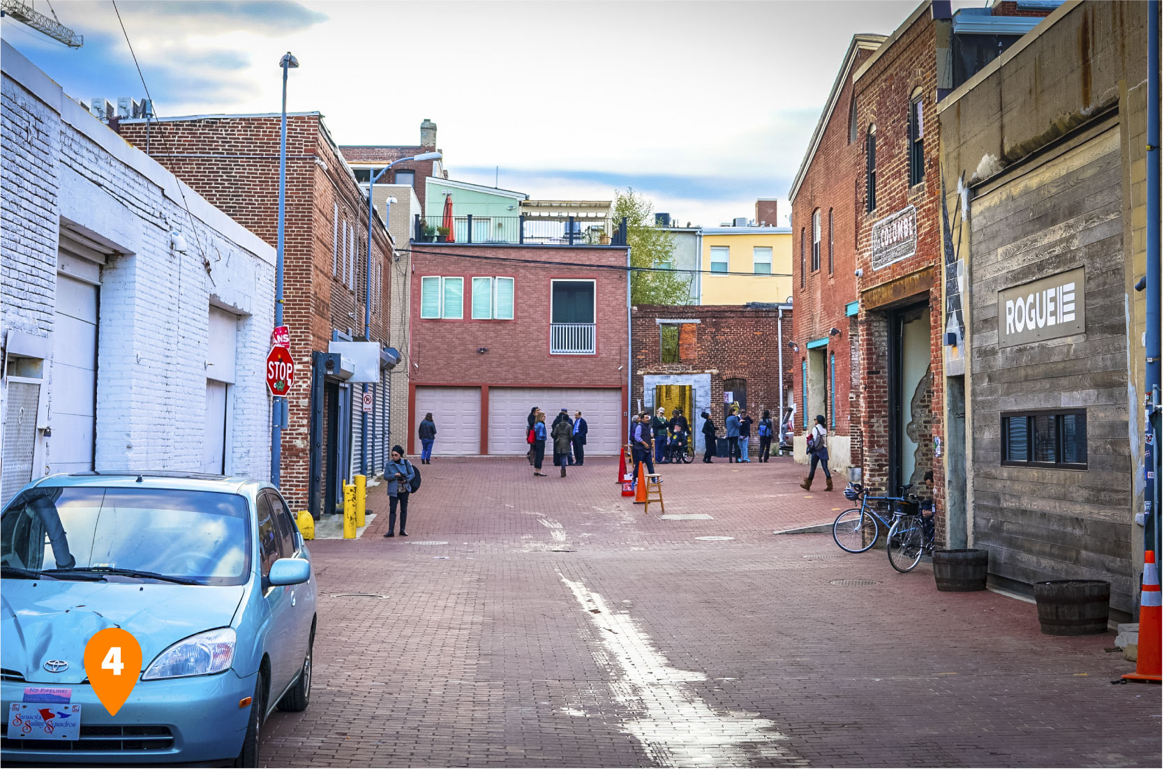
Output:
[[[836,431],[839,435],[849,435],[854,465],[859,455],[860,433],[859,415],[852,411],[850,401],[856,400],[858,386],[852,384],[852,348],[857,335],[856,318],[846,315],[846,306],[857,300],[857,222],[861,192],[859,182],[864,180],[865,156],[860,131],[856,141],[849,141],[849,116],[853,97],[852,72],[866,62],[872,51],[858,49],[851,69],[844,77],[844,85],[837,98],[836,107],[821,135],[816,154],[809,163],[796,198],[793,200],[793,333],[792,341],[800,344],[801,351],[794,354],[796,367],[793,370],[793,385],[796,405],[803,401],[804,394],[801,363],[808,357],[804,343],[815,339],[829,337],[828,355],[836,361],[836,394],[833,411],[836,412]],[[821,269],[811,271],[812,250],[812,213],[821,211]],[[832,271],[829,271],[829,213],[832,212]],[[801,285],[801,229],[804,230],[804,285]],[[829,336],[832,328],[840,329],[839,336]],[[828,358],[826,358],[828,362]],[[828,367],[826,367],[828,368]],[[825,401],[825,415],[829,403]],[[803,427],[805,407],[796,413],[796,431]],[[828,418],[831,425],[833,418]]]

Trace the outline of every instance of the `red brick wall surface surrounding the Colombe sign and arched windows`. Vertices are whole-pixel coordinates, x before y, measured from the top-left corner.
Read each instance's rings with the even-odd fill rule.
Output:
[[[925,172],[922,183],[909,186],[909,99],[921,87],[923,95],[923,143]],[[932,465],[920,470],[935,474],[935,502],[939,517],[944,513],[943,458],[932,457],[932,436],[944,436],[942,426],[943,371],[942,334],[942,225],[941,170],[938,156],[938,116],[936,109],[937,58],[935,24],[929,13],[922,13],[893,45],[881,52],[873,65],[853,85],[858,109],[860,166],[857,178],[857,265],[864,276],[857,280],[863,294],[858,315],[860,348],[860,428],[861,455],[853,464],[863,467],[865,483],[883,490],[889,477],[889,384],[887,310],[871,310],[867,301],[878,296],[878,286],[888,286],[907,275],[930,270],[932,283],[928,292],[910,301],[930,305],[930,369],[932,390],[927,396],[932,420],[923,429],[920,446],[928,449]],[[876,125],[876,209],[866,213],[865,142],[870,125]],[[874,270],[871,263],[872,227],[897,211],[917,208],[917,250],[914,256]],[[883,290],[883,289],[879,289]],[[909,400],[909,397],[906,397]],[[859,461],[859,462],[858,462]],[[918,475],[920,478],[920,475]],[[938,540],[944,541],[945,525],[939,520]]]

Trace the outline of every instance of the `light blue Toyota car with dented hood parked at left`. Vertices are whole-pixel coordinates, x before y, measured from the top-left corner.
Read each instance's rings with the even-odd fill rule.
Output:
[[[311,699],[314,573],[267,482],[44,477],[0,516],[0,576],[5,765],[254,767],[268,714]],[[142,652],[115,714],[84,664],[90,638],[109,627]]]

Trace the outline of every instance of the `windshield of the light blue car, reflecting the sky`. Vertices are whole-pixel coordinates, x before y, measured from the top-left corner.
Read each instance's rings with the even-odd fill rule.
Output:
[[[133,488],[31,488],[0,517],[0,567],[93,581],[142,583],[116,569],[204,584],[241,584],[250,573],[247,499],[239,495]],[[144,575],[142,574],[142,575]],[[74,576],[69,576],[73,578]]]

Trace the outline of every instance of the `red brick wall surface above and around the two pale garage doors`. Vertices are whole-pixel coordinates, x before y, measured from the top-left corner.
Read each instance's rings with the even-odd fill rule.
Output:
[[[620,271],[624,266],[626,248],[414,243],[410,347],[417,365],[411,371],[410,392],[418,385],[625,388],[626,272]],[[464,278],[462,320],[420,318],[420,278],[434,275]],[[513,320],[471,319],[474,277],[513,278]],[[595,355],[549,354],[551,279],[596,280]],[[482,347],[489,351],[478,353]],[[410,410],[407,427],[418,422]]]

